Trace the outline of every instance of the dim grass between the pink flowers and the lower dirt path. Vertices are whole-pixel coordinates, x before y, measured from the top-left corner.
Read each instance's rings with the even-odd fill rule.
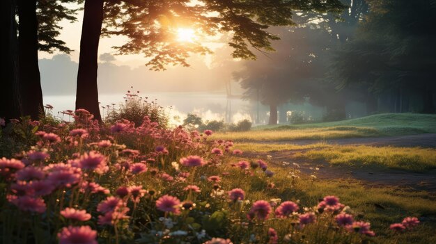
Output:
[[[265,190],[264,181],[256,181],[253,177],[232,177],[225,179],[223,184],[232,187],[244,186],[247,196],[251,199],[281,198],[304,202],[306,206],[316,205],[318,200],[325,195],[338,195],[341,202],[352,206],[358,218],[371,222],[371,227],[377,231],[377,236],[372,239],[375,243],[435,243],[436,236],[433,229],[436,227],[436,200],[434,195],[420,192],[410,192],[394,187],[367,188],[358,181],[327,181],[311,180],[304,175],[295,181],[290,180],[290,172],[277,166],[268,167],[274,174],[272,181],[277,188]],[[394,235],[387,229],[393,222],[400,222],[404,215],[427,216],[419,230],[407,232],[400,236]],[[427,234],[430,235],[427,235]],[[308,237],[307,243],[319,243]]]

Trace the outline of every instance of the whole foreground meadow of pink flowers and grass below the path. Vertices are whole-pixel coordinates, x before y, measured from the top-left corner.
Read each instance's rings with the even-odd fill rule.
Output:
[[[0,159],[1,243],[436,242],[431,193],[320,180],[148,117],[74,117],[1,131],[23,149]]]

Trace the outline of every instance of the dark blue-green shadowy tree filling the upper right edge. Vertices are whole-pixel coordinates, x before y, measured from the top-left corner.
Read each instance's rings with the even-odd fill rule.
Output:
[[[421,97],[421,111],[434,113],[436,1],[367,1],[370,12],[336,58],[341,85],[385,95],[393,112],[409,111],[409,98]]]

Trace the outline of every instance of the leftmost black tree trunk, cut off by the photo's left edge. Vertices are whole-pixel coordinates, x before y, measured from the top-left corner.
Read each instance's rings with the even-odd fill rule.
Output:
[[[0,1],[0,117],[6,122],[22,115],[18,77],[17,29],[13,0]]]

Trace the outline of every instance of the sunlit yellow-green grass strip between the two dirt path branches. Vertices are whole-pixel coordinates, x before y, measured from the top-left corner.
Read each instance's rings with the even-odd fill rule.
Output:
[[[370,147],[365,145],[310,145],[240,143],[244,152],[297,150],[297,158],[323,160],[332,165],[352,165],[426,172],[436,168],[436,149],[420,147]],[[301,152],[303,151],[303,152]]]

